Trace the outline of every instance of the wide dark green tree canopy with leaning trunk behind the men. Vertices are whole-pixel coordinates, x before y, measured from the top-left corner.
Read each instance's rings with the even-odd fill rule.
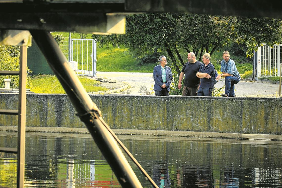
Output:
[[[261,29],[257,29],[257,27]],[[126,34],[93,35],[104,45],[124,44],[139,56],[166,53],[173,72],[172,92],[180,94],[177,82],[184,65],[182,54],[222,50],[231,41],[244,43],[247,54],[257,49],[257,44],[281,42],[281,20],[268,18],[237,18],[234,16],[210,16],[198,14],[136,14],[126,16]],[[157,58],[157,57],[156,57]],[[186,58],[186,57],[185,57]]]

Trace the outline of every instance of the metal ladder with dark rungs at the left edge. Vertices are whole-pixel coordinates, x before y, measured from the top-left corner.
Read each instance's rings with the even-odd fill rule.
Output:
[[[17,154],[17,187],[25,183],[25,120],[26,120],[26,79],[27,79],[27,46],[20,46],[19,71],[0,71],[0,75],[19,76],[18,110],[0,109],[0,114],[18,115],[17,148],[0,147],[0,152]]]

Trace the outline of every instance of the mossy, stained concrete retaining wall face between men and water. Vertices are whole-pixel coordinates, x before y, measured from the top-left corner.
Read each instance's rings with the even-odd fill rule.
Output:
[[[282,99],[91,95],[114,129],[281,134]],[[17,94],[0,94],[0,109],[17,109]],[[0,115],[1,126],[17,116]],[[85,127],[65,94],[28,94],[27,126]]]

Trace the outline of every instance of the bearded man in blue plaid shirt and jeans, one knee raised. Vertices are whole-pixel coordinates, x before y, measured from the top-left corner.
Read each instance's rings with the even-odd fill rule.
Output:
[[[234,84],[239,83],[241,76],[236,68],[232,59],[229,58],[229,52],[224,51],[222,54],[221,68],[222,74],[216,77],[218,81],[220,77],[225,77],[225,93],[221,94],[222,97],[234,97]]]

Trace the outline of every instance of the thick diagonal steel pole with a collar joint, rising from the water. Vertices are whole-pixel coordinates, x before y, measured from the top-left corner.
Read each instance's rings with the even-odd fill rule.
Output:
[[[55,39],[44,30],[30,30],[30,33],[122,187],[142,187],[119,145],[100,120],[102,118],[100,110],[92,102],[75,72],[68,65]]]

